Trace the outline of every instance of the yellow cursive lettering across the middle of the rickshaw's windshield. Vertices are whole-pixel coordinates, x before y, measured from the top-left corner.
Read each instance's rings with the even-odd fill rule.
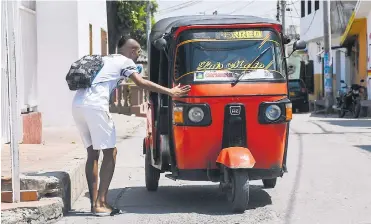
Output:
[[[201,61],[197,70],[221,70],[221,69],[263,69],[266,66],[257,61],[254,64],[248,63],[245,60],[238,60],[235,62],[229,62],[228,64],[223,64],[221,62],[211,62],[211,61]]]

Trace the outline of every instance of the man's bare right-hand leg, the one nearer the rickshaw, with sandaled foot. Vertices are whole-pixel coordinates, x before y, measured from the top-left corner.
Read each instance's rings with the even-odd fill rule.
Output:
[[[96,202],[96,212],[112,212],[112,207],[107,204],[107,193],[116,165],[117,149],[104,149],[103,162],[100,169],[100,184]]]

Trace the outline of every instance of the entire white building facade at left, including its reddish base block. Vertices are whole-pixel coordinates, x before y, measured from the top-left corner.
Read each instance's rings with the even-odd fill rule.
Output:
[[[2,1],[2,31],[9,27],[3,20],[8,4],[13,4],[15,15],[11,25],[15,30],[20,142],[40,143],[42,127],[74,124],[74,92],[65,81],[71,63],[86,54],[108,52],[106,2]],[[2,47],[9,38],[2,35]],[[4,58],[2,51],[2,62]],[[2,68],[2,143],[10,140],[7,77]],[[33,138],[27,138],[31,133]]]

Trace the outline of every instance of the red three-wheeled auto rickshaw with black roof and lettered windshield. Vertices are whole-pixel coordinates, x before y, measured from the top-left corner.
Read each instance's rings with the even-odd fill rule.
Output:
[[[252,16],[181,16],[158,21],[148,41],[149,79],[191,85],[188,96],[151,92],[143,142],[145,180],[219,182],[244,212],[249,181],[276,185],[287,171],[292,104],[276,21]],[[294,43],[294,51],[306,48]]]

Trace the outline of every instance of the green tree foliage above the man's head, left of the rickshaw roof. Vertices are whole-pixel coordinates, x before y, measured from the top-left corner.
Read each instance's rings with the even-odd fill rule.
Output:
[[[150,0],[152,25],[155,23],[154,13],[157,11],[156,0]],[[117,19],[118,28],[122,35],[130,35],[136,39],[143,47],[146,47],[147,36],[147,7],[149,1],[118,1]]]

